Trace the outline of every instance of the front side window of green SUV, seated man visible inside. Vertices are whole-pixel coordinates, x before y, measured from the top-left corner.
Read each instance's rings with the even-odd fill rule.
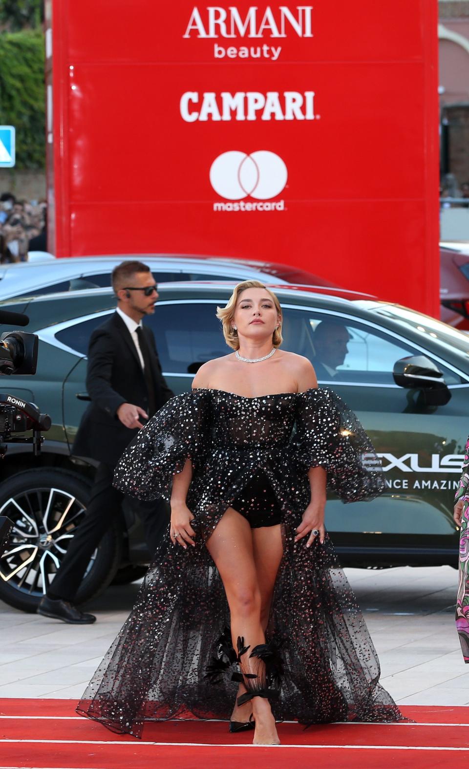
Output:
[[[394,384],[396,361],[421,351],[378,328],[320,311],[284,310],[283,348],[309,358],[319,381]],[[453,371],[437,363],[447,384],[459,384]]]

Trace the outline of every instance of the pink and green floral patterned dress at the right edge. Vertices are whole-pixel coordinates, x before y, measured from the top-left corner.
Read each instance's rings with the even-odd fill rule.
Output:
[[[463,504],[461,537],[459,540],[459,583],[457,585],[456,628],[461,641],[464,662],[469,663],[469,438],[464,451],[461,480],[454,504]]]

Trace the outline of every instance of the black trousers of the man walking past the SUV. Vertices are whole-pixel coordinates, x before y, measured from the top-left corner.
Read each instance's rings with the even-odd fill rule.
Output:
[[[115,516],[119,514],[124,494],[112,485],[114,471],[114,465],[98,465],[85,518],[78,526],[64,560],[55,574],[48,591],[50,598],[74,601],[91,555],[102,536],[111,527]],[[130,497],[127,499],[132,511],[141,519],[148,550],[153,556],[168,527],[168,506],[162,500],[147,502]]]

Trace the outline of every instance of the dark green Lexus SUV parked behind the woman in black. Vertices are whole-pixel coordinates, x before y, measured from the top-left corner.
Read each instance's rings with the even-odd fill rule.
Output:
[[[176,394],[191,387],[202,362],[229,352],[215,309],[225,305],[232,287],[161,286],[155,315],[145,322]],[[318,364],[320,384],[358,413],[385,471],[388,489],[376,501],[328,501],[326,524],[342,563],[456,564],[452,502],[469,429],[469,338],[433,318],[350,292],[275,290],[284,311],[284,348],[318,361],[314,334],[321,324],[333,321],[346,335],[343,362]],[[0,559],[0,598],[34,611],[85,511],[93,467],[74,460],[70,446],[88,398],[88,338],[114,311],[115,298],[109,289],[94,289],[2,307],[26,312],[28,331],[40,339],[37,374],[4,378],[2,390],[52,417],[40,458],[12,445],[0,465],[0,514],[15,521],[15,536]],[[266,391],[274,389],[266,383]],[[141,529],[123,508],[90,561],[80,601],[145,570]]]

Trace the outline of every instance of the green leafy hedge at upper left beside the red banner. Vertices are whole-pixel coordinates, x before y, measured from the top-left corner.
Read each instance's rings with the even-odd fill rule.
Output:
[[[44,35],[41,29],[0,35],[0,124],[16,129],[16,168],[44,168]]]

